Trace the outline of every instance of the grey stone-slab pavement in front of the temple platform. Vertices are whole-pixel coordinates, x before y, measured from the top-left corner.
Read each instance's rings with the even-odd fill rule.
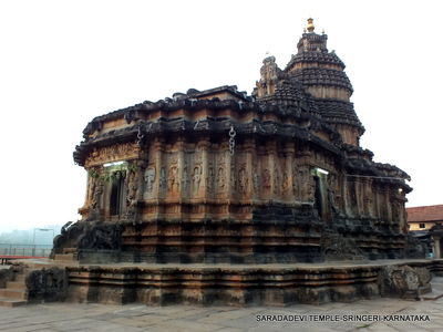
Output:
[[[443,297],[435,299],[443,293],[443,278],[434,277],[432,286],[433,293],[424,297],[433,300],[378,298],[286,308],[30,304],[0,308],[0,331],[443,331]],[[419,321],[402,321],[411,319]]]

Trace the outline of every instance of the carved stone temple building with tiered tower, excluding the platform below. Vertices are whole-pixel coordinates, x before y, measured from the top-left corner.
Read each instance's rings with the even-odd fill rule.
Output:
[[[62,236],[55,253],[158,263],[405,257],[409,176],[359,146],[344,64],[312,21],[307,29],[284,70],[264,60],[253,95],[190,89],[92,120],[74,152],[89,181],[72,232],[87,236]]]

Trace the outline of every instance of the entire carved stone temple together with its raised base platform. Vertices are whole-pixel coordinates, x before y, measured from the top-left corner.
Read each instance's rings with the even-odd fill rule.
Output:
[[[82,219],[54,239],[63,273],[40,271],[65,280],[42,291],[30,273],[30,295],[285,304],[429,288],[442,266],[408,237],[409,176],[360,147],[327,40],[309,19],[297,54],[284,70],[266,58],[251,95],[189,89],[92,120],[74,152]]]

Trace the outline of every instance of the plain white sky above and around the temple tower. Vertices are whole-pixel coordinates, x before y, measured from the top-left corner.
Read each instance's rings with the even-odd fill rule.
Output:
[[[189,87],[250,93],[312,17],[347,64],[362,146],[443,204],[441,1],[1,1],[0,231],[76,220],[72,152],[96,115]]]

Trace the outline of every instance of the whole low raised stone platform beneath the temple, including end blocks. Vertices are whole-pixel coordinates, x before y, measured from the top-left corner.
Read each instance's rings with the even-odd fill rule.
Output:
[[[247,266],[79,264],[40,260],[25,264],[31,270],[27,277],[30,301],[245,307],[349,302],[380,295],[401,298],[412,294],[414,298],[413,294],[420,295],[426,290],[426,284],[419,284],[421,281],[418,280],[415,286],[411,286],[408,283],[410,274],[404,273],[439,273],[443,260]],[[385,283],[383,276],[391,276],[385,271],[403,273],[405,283],[382,287]],[[38,284],[33,280],[43,282]],[[415,292],[410,291],[411,287],[416,287]]]

